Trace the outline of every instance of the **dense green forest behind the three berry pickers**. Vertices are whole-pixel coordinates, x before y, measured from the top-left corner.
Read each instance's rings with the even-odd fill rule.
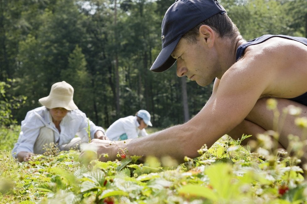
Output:
[[[149,71],[174,0],[0,0],[0,122],[20,124],[51,85],[65,80],[96,125],[146,109],[154,127],[183,123],[212,84]],[[307,0],[220,0],[245,40],[307,37]],[[174,65],[175,66],[175,65]]]

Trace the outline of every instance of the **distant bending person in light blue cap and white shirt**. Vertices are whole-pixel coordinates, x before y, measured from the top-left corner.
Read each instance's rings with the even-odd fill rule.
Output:
[[[106,131],[110,140],[127,140],[148,136],[145,128],[153,126],[147,110],[139,110],[135,116],[130,115],[116,120]]]

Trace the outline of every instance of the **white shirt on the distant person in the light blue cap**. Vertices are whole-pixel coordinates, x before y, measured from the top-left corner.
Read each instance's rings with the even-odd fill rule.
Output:
[[[137,116],[130,115],[116,120],[105,133],[110,140],[119,140],[122,134],[126,134],[128,139],[147,136],[145,128],[140,130],[139,126]]]

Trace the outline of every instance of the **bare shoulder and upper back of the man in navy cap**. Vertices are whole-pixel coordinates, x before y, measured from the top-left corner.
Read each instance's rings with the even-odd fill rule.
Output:
[[[264,85],[262,96],[294,98],[307,91],[306,77],[307,46],[294,40],[271,38],[249,46],[221,82],[229,83],[231,79],[242,81],[243,86],[246,83]]]

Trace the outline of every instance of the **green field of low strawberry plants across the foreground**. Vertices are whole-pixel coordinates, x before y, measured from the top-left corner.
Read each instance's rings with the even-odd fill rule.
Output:
[[[16,162],[18,133],[19,126],[0,133],[0,203],[307,203],[295,156],[265,146],[250,153],[227,135],[184,164],[133,156],[84,167],[72,150]]]

